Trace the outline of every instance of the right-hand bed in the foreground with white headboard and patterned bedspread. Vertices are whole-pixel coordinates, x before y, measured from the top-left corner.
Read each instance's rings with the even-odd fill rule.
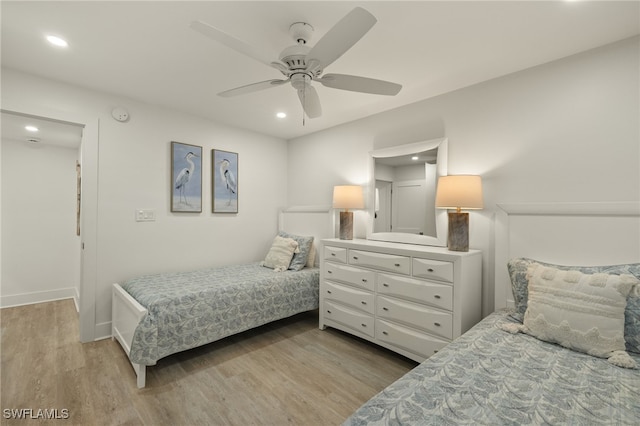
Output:
[[[496,311],[375,395],[344,425],[638,424],[640,204],[499,207]],[[540,282],[557,284],[558,277],[577,279],[572,285],[604,282],[598,291],[617,283],[611,297],[618,303],[607,308],[616,312],[616,332],[624,333],[615,352],[590,353],[591,347],[572,347],[571,338],[536,334],[536,309],[545,307]],[[578,300],[572,293],[551,300],[565,296]],[[585,330],[601,320],[599,311],[587,311],[578,317]],[[551,312],[566,318],[573,308]],[[602,321],[608,320],[613,316]]]

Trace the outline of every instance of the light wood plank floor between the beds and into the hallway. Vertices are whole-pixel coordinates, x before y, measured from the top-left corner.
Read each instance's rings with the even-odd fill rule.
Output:
[[[310,312],[172,355],[137,389],[111,339],[78,342],[72,300],[0,310],[1,424],[336,425],[416,363]],[[57,409],[66,420],[6,419]]]

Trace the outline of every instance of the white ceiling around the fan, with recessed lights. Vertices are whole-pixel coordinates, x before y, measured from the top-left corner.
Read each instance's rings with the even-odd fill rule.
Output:
[[[640,33],[638,1],[1,2],[2,66],[291,139]],[[281,74],[191,30],[201,20],[274,59],[288,28],[313,45],[355,6],[378,23],[326,72],[403,85],[395,97],[314,84],[323,115],[306,119],[289,85],[222,98]],[[53,48],[44,36],[66,38]],[[123,105],[126,106],[126,105]],[[276,119],[277,111],[288,113]],[[135,120],[135,115],[131,117]]]

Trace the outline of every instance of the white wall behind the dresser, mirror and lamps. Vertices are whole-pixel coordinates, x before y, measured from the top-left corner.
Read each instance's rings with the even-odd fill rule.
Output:
[[[289,201],[328,204],[334,185],[368,182],[369,151],[448,137],[449,174],[483,177],[485,209],[470,213],[470,245],[484,252],[487,314],[496,203],[640,199],[639,40],[292,140]],[[364,229],[356,223],[357,236]]]

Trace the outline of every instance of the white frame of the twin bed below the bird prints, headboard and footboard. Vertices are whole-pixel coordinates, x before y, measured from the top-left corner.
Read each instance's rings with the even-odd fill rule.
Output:
[[[335,215],[328,206],[291,207],[280,212],[278,229],[291,234],[313,235],[314,246],[317,248],[321,239],[335,235]],[[318,250],[315,265],[318,265]],[[147,310],[116,283],[113,284],[111,314],[111,338],[120,342],[129,356],[133,334]],[[131,365],[137,376],[138,388],[143,388],[146,383],[146,366],[133,362]]]

